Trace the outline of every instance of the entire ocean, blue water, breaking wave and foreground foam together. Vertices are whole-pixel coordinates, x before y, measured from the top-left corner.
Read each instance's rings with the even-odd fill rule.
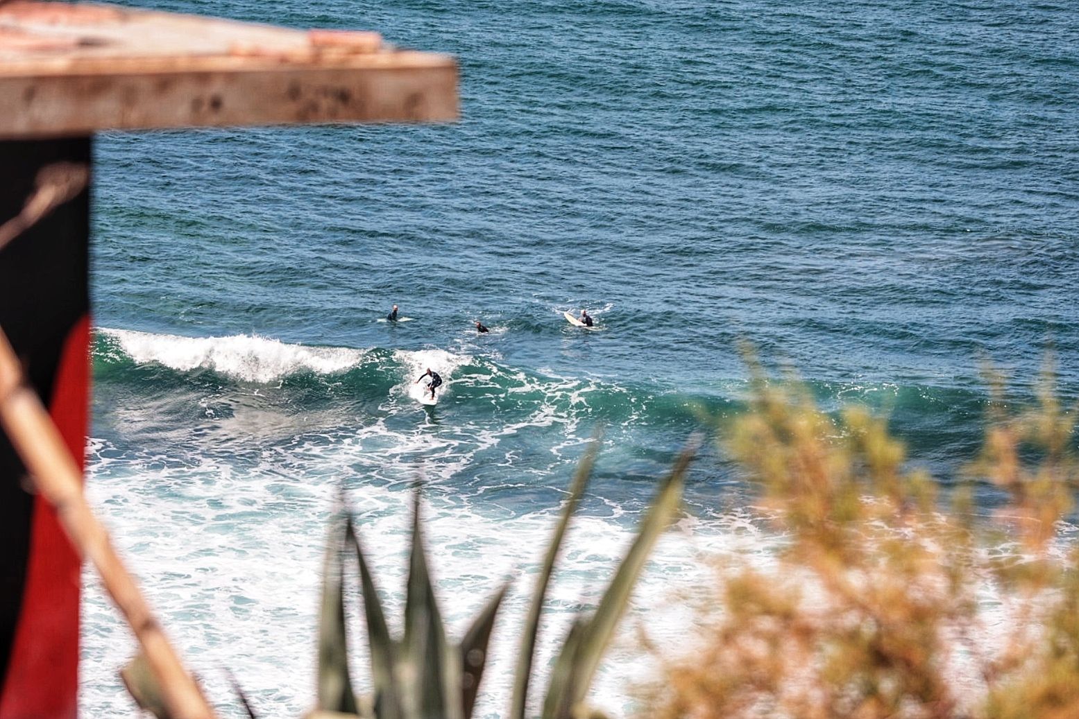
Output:
[[[1073,3],[140,4],[377,29],[462,69],[457,124],[96,143],[88,492],[215,696],[229,667],[265,716],[310,707],[333,497],[396,610],[422,475],[453,631],[515,581],[478,711],[501,716],[588,438],[606,428],[541,664],[701,417],[742,406],[741,338],[824,406],[888,413],[945,484],[979,447],[982,362],[1021,401],[1052,347],[1079,397]],[[379,321],[394,303],[412,321]],[[561,318],[581,307],[596,331]],[[701,556],[776,541],[711,442],[686,504],[627,623],[660,640]],[[597,682],[615,715],[650,672],[632,645]],[[88,576],[82,651],[84,716],[132,716],[131,639]]]

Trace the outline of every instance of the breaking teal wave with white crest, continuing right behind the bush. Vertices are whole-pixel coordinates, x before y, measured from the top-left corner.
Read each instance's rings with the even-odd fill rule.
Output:
[[[133,444],[183,437],[192,456],[249,453],[243,447],[319,431],[332,444],[371,426],[432,430],[476,446],[514,444],[543,456],[604,427],[622,455],[618,462],[626,462],[620,470],[643,473],[644,467],[661,471],[694,430],[712,427],[722,434],[745,409],[748,392],[740,379],[701,383],[687,392],[656,382],[559,377],[445,350],[318,347],[254,335],[105,329],[96,334],[94,360],[101,410],[96,430]],[[445,379],[434,410],[416,402],[418,381],[428,367]],[[819,381],[807,386],[828,411],[853,403],[888,416],[912,458],[944,479],[980,446],[986,400],[981,388]],[[134,432],[133,416],[140,417]]]

